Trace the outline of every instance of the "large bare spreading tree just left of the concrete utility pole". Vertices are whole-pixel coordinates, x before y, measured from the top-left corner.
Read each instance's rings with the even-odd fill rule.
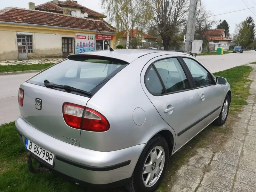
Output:
[[[148,0],[151,5],[150,26],[162,37],[164,50],[168,50],[174,37],[181,32],[188,19],[188,0]]]

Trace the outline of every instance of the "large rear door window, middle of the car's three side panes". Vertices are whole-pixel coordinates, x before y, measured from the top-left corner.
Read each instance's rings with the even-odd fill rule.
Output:
[[[167,93],[189,89],[188,79],[177,58],[168,58],[154,63]]]

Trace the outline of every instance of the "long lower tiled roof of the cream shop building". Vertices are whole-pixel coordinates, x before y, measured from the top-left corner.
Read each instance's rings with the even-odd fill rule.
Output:
[[[6,8],[5,10],[7,11],[4,12],[0,10],[0,12],[3,12],[0,14],[0,21],[98,31],[98,29],[95,27],[96,25],[100,31],[115,32],[113,28],[107,26],[101,20],[92,21],[92,19],[87,18],[22,8],[10,8],[9,10]]]

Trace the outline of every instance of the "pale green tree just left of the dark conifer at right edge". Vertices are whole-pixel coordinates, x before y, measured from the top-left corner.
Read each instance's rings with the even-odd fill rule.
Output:
[[[247,27],[246,21],[242,21],[236,24],[235,34],[234,34],[234,44],[247,46],[251,38],[251,27]]]

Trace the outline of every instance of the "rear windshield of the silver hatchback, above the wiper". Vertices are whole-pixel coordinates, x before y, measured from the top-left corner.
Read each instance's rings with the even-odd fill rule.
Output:
[[[48,80],[51,84],[69,85],[94,94],[127,64],[109,57],[72,55],[27,82],[45,86],[44,80]]]

